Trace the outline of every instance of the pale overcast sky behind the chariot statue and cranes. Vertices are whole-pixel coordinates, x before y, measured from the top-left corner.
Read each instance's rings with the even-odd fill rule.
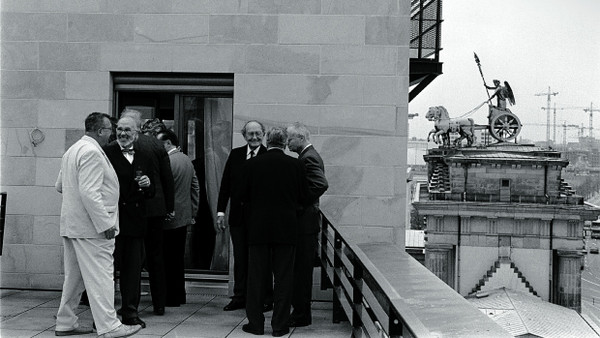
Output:
[[[425,138],[433,128],[425,119],[430,106],[444,106],[458,117],[487,99],[473,52],[488,85],[499,79],[512,87],[516,105],[510,109],[523,123],[519,138],[546,139],[541,107],[547,96],[535,94],[548,87],[558,92],[552,108],[581,107],[557,110],[557,125],[587,127],[583,107],[593,102],[600,109],[600,0],[447,0],[442,18],[443,74],[409,104],[409,112],[419,114],[409,121],[410,137]],[[484,106],[471,117],[487,125],[487,113]],[[594,128],[600,138],[600,111]],[[562,134],[557,126],[556,143],[562,143]],[[567,131],[567,140],[576,138],[577,130]]]

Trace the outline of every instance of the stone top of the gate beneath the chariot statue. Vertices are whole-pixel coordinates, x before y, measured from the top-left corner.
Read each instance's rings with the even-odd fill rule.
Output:
[[[507,287],[581,310],[583,226],[600,215],[563,181],[568,161],[532,145],[430,149],[414,203],[425,264],[463,296]]]

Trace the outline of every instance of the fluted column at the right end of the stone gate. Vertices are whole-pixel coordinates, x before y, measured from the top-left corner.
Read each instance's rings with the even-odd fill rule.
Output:
[[[574,250],[558,250],[558,305],[581,313],[581,260],[583,254]]]

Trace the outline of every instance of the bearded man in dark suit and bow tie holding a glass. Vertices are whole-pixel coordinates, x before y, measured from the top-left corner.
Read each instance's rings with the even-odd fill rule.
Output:
[[[119,179],[119,224],[116,238],[115,265],[120,270],[121,309],[126,325],[146,327],[138,315],[140,274],[146,234],[145,203],[154,196],[155,177],[151,155],[134,146],[138,129],[135,120],[123,117],[117,122],[117,140],[104,147],[106,156]]]

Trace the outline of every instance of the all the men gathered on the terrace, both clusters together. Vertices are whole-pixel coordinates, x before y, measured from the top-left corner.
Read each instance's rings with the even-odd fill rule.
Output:
[[[116,126],[107,114],[91,113],[85,135],[62,158],[56,189],[63,195],[65,281],[57,336],[93,331],[80,326],[75,314],[83,291],[100,337],[127,337],[144,328],[138,314],[144,261],[154,313],[186,303],[186,229],[198,210],[200,182],[172,131],[147,136],[140,127],[137,111],[125,110]],[[264,334],[263,312],[273,309],[273,336],[279,337],[289,327],[311,324],[319,197],[328,183],[306,126],[271,128],[266,147],[260,122],[249,121],[242,134],[247,144],[227,159],[215,224],[217,231],[226,228],[229,203],[234,295],[224,310],[245,308],[249,323],[242,329]],[[286,146],[298,159],[284,153]]]

